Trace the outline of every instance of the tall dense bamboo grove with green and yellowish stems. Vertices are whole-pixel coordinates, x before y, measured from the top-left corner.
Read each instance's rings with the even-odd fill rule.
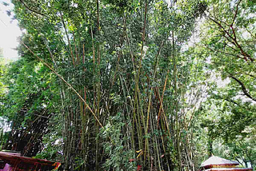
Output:
[[[26,30],[19,54],[44,68],[47,96],[58,97],[54,112],[38,110],[34,138],[60,134],[64,169],[198,169],[195,119],[210,76],[187,43],[205,1],[13,3]]]

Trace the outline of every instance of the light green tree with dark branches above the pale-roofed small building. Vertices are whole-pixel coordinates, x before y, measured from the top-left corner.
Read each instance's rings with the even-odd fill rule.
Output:
[[[203,111],[216,117],[202,118],[202,126],[208,128],[210,149],[221,138],[222,145],[230,149],[230,157],[254,165],[254,142],[248,143],[254,133],[246,129],[255,122],[255,18],[251,17],[255,4],[212,2],[215,5],[207,10],[198,54],[206,59],[206,67],[213,70],[215,78],[226,85],[217,83],[210,89],[210,105]],[[218,149],[214,151],[218,153]]]

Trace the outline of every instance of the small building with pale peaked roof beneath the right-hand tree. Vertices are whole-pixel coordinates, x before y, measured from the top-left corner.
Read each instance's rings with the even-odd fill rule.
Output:
[[[230,161],[221,157],[212,156],[202,162],[201,170],[205,171],[253,171],[252,168],[239,168],[237,161]]]

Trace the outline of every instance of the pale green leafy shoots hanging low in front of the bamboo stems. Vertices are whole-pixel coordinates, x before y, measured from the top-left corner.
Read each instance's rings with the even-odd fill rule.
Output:
[[[134,170],[134,151],[130,149],[130,145],[126,141],[130,137],[125,136],[125,125],[131,123],[122,122],[122,113],[117,113],[116,116],[110,117],[110,121],[101,129],[100,137],[106,139],[103,148],[105,151],[105,162],[102,165],[106,170]],[[109,141],[110,140],[110,141]]]

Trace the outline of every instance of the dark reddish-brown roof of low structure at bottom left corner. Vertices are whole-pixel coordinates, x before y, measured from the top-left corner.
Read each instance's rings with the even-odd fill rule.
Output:
[[[0,171],[53,170],[58,169],[61,165],[59,162],[22,157],[20,153],[0,152],[0,160],[2,160],[2,167],[0,167]]]

